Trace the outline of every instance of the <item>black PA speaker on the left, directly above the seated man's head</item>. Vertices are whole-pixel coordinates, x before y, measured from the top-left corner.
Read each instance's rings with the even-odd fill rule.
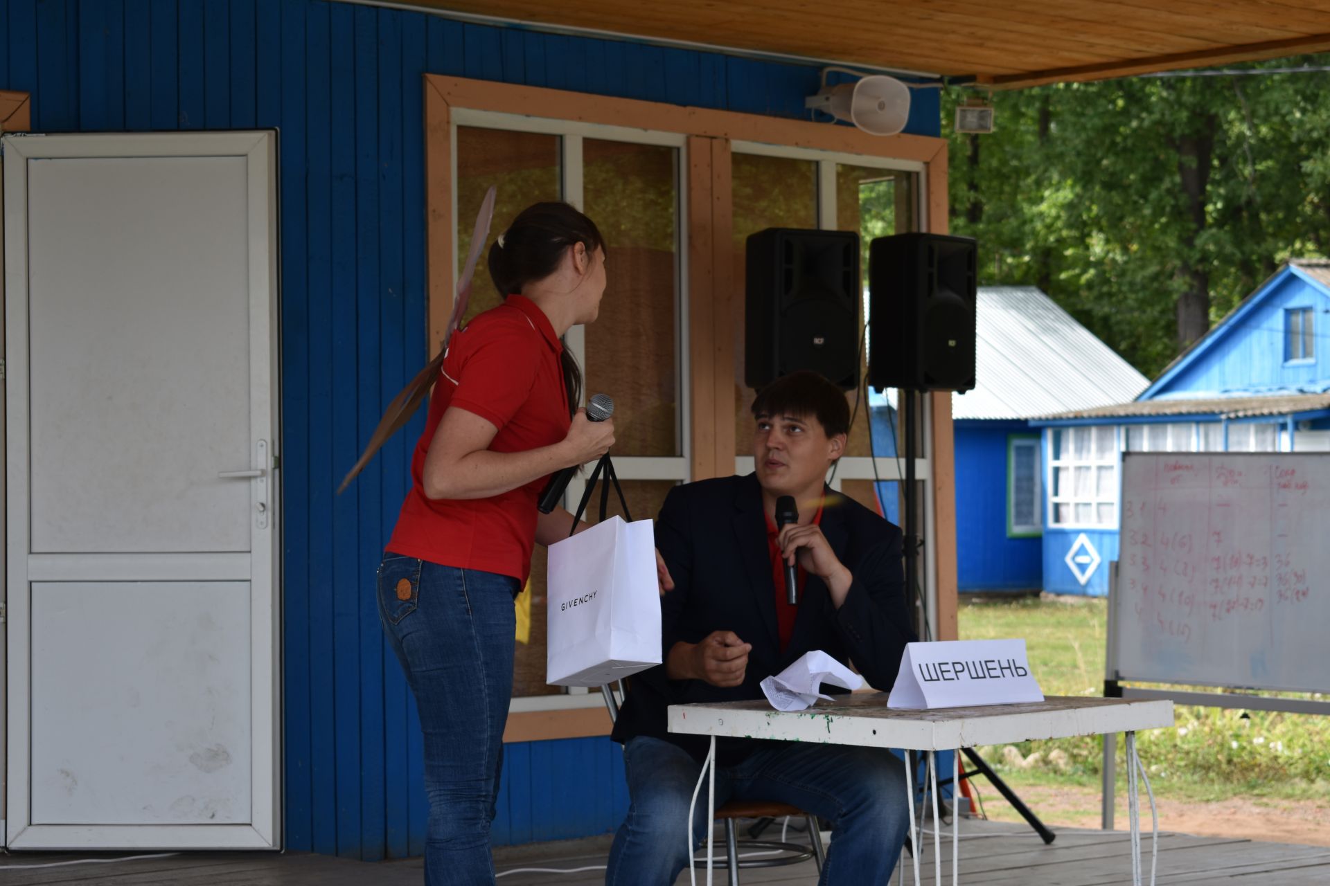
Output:
[[[859,387],[859,235],[769,227],[747,238],[743,383],[797,369]]]

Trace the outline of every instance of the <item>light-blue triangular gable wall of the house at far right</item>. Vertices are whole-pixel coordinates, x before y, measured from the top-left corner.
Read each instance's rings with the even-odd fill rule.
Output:
[[[1286,308],[1313,308],[1315,355],[1310,361],[1285,361]],[[1142,399],[1188,392],[1190,396],[1226,391],[1295,388],[1330,383],[1330,292],[1325,284],[1286,268],[1233,313],[1208,340],[1150,385]]]

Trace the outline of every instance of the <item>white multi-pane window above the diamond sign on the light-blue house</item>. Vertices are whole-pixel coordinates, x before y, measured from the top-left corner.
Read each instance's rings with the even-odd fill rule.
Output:
[[[1117,525],[1115,428],[1055,428],[1049,464],[1052,526]]]

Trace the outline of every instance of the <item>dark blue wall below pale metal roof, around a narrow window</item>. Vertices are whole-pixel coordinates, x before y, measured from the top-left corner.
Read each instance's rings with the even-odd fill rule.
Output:
[[[1007,438],[1025,421],[956,421],[956,578],[964,591],[1043,587],[1043,543],[1007,537]]]

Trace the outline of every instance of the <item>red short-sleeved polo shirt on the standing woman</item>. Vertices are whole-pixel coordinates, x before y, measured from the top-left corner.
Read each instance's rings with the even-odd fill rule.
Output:
[[[390,551],[527,580],[536,501],[548,478],[491,498],[431,499],[424,494],[424,458],[448,406],[493,422],[499,433],[491,452],[539,449],[568,436],[563,349],[549,317],[520,295],[509,295],[454,333],[411,458],[411,491]]]

